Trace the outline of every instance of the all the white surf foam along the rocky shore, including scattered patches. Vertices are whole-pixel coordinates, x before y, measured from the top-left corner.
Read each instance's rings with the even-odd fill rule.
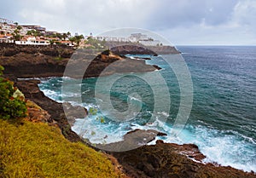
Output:
[[[45,82],[45,81],[44,81]],[[44,83],[43,82],[43,83]],[[44,95],[49,98],[61,102],[59,99],[61,93],[51,89],[42,89]],[[85,90],[87,92],[87,90]],[[68,97],[78,97],[72,92],[68,93]],[[136,97],[130,96],[130,100],[138,100]],[[73,106],[84,106],[89,109],[90,107],[97,108],[92,103],[78,103],[73,101]],[[172,126],[160,120],[160,118],[169,117],[166,112],[152,113],[154,122],[140,125],[136,121],[131,123],[114,123],[112,121],[101,123],[100,118],[102,115],[97,113],[96,116],[91,116],[86,119],[78,118],[73,125],[73,130],[83,135],[92,143],[111,143],[122,141],[123,136],[132,129],[155,129],[160,132],[165,132],[167,136],[159,136],[148,145],[155,144],[155,141],[161,139],[165,142],[172,142],[177,144],[195,143],[199,146],[201,152],[207,156],[204,160],[205,163],[217,162],[224,166],[232,166],[236,169],[243,169],[245,171],[253,170],[256,172],[256,141],[245,135],[241,135],[233,130],[219,131],[213,129],[210,125],[207,126],[190,126],[183,129],[182,133],[177,137],[170,136]],[[119,124],[119,125],[117,125]],[[206,125],[205,123],[201,123]]]

